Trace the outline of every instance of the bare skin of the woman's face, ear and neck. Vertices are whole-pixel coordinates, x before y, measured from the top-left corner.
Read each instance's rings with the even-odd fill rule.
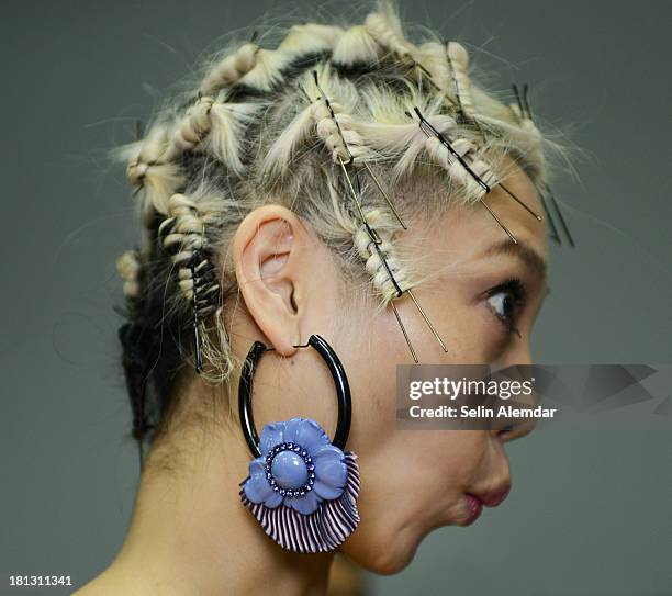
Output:
[[[542,213],[520,170],[514,168],[506,185]],[[400,240],[410,250],[422,240],[423,254],[446,266],[413,292],[448,353],[413,302],[396,302],[421,363],[530,363],[530,333],[547,291],[540,267],[547,258],[545,224],[500,188],[488,203],[515,234],[517,246],[482,205],[451,207],[436,229],[412,228]],[[503,248],[491,248],[502,240]],[[412,360],[394,314],[391,308],[377,316],[370,308],[344,308],[338,299],[343,282],[328,250],[291,211],[269,204],[250,213],[237,230],[232,256],[240,290],[229,311],[234,315],[226,318],[233,348],[242,357],[256,339],[276,348],[264,356],[255,375],[257,428],[302,416],[333,436],[332,376],[312,348],[293,347],[311,334],[329,341],[348,374],[354,411],[347,448],[358,454],[362,479],[361,522],[341,549],[348,558],[377,573],[399,572],[428,532],[467,524],[468,493],[485,497],[509,486],[504,446],[531,427],[396,430],[395,367]],[[519,336],[496,316],[497,299],[486,295],[514,277],[528,294],[515,319]],[[190,379],[180,395],[184,412],[221,400],[197,376]],[[237,375],[233,391],[237,395]],[[201,409],[199,424],[176,416],[166,438],[153,445],[122,549],[76,594],[325,593],[332,554],[283,551],[239,503],[238,482],[251,458],[233,414],[235,404],[232,412]]]

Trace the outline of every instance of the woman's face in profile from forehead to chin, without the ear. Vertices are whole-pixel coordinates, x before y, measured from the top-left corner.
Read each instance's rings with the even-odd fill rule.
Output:
[[[515,168],[507,188],[541,213],[535,187],[522,170]],[[545,224],[501,189],[488,201],[517,245],[479,204],[451,207],[430,230],[422,230],[423,246],[440,272],[414,293],[448,353],[404,301],[397,310],[421,363],[530,362],[530,334],[546,295]],[[512,483],[504,446],[529,427],[396,430],[395,366],[411,360],[390,313],[369,325],[348,334],[355,345],[344,355],[361,390],[354,394],[359,398],[350,445],[360,461],[362,520],[343,550],[366,567],[393,573],[411,561],[432,530],[470,525],[483,506],[504,499]]]

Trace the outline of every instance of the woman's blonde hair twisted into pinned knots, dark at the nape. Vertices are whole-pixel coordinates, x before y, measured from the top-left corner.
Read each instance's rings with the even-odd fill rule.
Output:
[[[419,283],[396,246],[401,227],[379,180],[408,221],[440,209],[422,201],[473,203],[483,188],[423,132],[414,109],[488,183],[506,175],[505,155],[545,183],[547,142],[537,127],[471,80],[463,46],[407,40],[390,1],[363,24],[294,25],[275,49],[258,41],[267,46],[268,36],[209,61],[187,105],[160,111],[144,138],[120,151],[141,191],[147,230],[134,260],[120,261],[132,316],[147,333],[170,329],[149,342],[158,417],[170,400],[166,379],[195,361],[193,313],[203,378],[221,383],[239,364],[225,328],[235,275],[222,256],[259,205],[272,200],[301,216],[349,277],[369,280],[380,308]],[[363,166],[378,176],[357,175],[361,209],[355,209],[343,172]],[[437,177],[447,192],[426,200],[395,192],[418,172]]]

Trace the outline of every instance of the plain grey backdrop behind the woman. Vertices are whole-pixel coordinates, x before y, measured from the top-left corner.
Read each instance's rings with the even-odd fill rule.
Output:
[[[120,547],[137,480],[112,312],[114,259],[136,229],[122,169],[103,153],[132,138],[200,52],[271,2],[2,4],[0,574],[82,583]],[[529,81],[533,108],[570,125],[586,154],[579,180],[556,183],[580,248],[552,248],[537,361],[671,361],[671,5],[404,7],[482,47],[497,86]],[[672,594],[669,431],[545,430],[509,452],[507,502],[432,535],[402,574],[371,577],[371,594]]]

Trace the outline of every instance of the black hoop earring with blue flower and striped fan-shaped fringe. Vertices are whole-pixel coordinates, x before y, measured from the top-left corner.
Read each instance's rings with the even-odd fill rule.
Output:
[[[261,356],[275,348],[255,341],[238,385],[243,435],[255,458],[240,483],[240,501],[264,531],[293,552],[326,552],[338,548],[359,524],[357,456],[344,451],[351,419],[348,379],[332,347],[318,335],[305,345],[326,362],[338,397],[334,441],[311,418],[267,424],[257,435],[251,412],[253,378]]]

